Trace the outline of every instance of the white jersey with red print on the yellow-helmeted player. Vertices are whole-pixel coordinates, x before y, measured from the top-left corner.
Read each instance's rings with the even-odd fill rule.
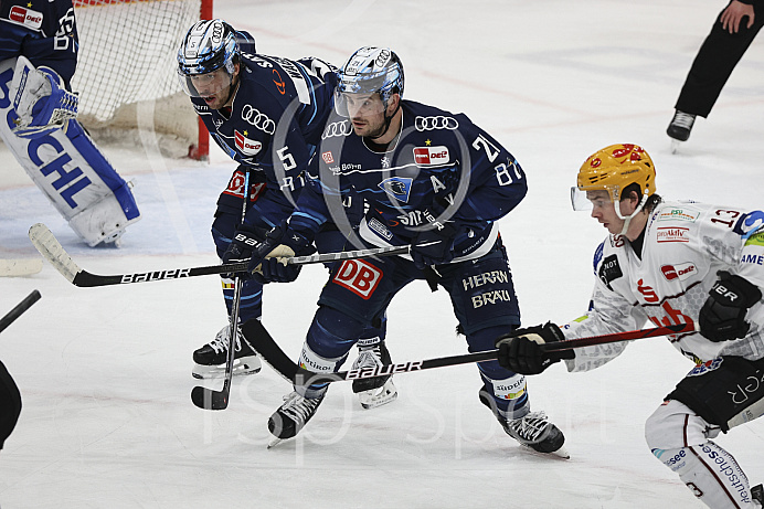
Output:
[[[563,328],[565,339],[639,329],[646,324],[697,324],[718,279],[728,271],[764,288],[764,212],[693,202],[662,202],[645,229],[641,259],[628,240],[609,235],[594,255],[590,311]],[[669,336],[700,364],[720,356],[764,357],[764,305],[747,314],[749,335],[713,342],[700,333]],[[626,342],[579,348],[569,371],[588,371],[623,352]]]

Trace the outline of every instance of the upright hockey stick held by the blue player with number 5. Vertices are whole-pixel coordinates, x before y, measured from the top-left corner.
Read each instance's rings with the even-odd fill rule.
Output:
[[[244,224],[246,218],[246,205],[250,201],[250,170],[244,170],[244,193],[242,200],[242,219],[240,225]],[[229,354],[225,359],[225,381],[223,389],[214,391],[212,389],[197,385],[191,391],[191,401],[199,409],[204,410],[225,410],[229,406],[231,395],[231,381],[233,380],[233,363],[236,359],[236,339],[238,336],[238,307],[242,304],[242,286],[244,278],[241,275],[234,277],[233,303],[231,304],[231,330],[229,331]],[[244,338],[242,338],[244,340]]]

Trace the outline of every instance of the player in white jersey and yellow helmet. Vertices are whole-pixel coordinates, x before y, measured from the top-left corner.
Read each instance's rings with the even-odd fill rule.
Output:
[[[761,508],[730,453],[711,438],[764,414],[764,212],[662,202],[655,168],[635,145],[591,156],[573,203],[588,203],[611,233],[594,256],[590,311],[560,330],[553,324],[499,338],[499,363],[524,374],[565,359],[587,371],[620,354],[615,342],[547,352],[543,343],[656,326],[691,324],[669,337],[696,362],[645,424],[652,454],[712,508]]]

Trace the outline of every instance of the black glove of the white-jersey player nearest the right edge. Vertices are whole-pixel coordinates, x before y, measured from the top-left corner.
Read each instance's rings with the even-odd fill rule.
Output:
[[[718,275],[719,280],[700,309],[700,333],[714,342],[744,338],[751,328],[745,314],[761,300],[762,291],[740,276],[724,271]]]

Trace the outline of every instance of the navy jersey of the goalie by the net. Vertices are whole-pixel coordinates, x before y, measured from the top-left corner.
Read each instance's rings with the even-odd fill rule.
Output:
[[[77,50],[72,0],[0,2],[0,61],[23,55],[35,67],[54,70],[68,87]]]

